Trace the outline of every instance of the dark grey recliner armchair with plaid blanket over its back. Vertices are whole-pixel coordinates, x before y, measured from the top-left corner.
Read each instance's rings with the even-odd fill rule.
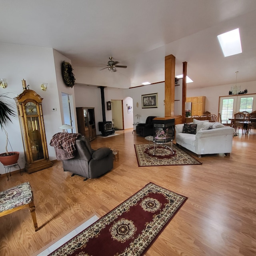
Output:
[[[64,172],[72,172],[72,176],[78,174],[87,180],[88,178],[97,178],[112,170],[113,153],[110,148],[103,147],[93,150],[85,136],[76,135],[78,136],[74,139],[73,156],[68,155],[64,149],[52,145],[52,140],[50,143],[55,148],[57,160],[62,161]]]

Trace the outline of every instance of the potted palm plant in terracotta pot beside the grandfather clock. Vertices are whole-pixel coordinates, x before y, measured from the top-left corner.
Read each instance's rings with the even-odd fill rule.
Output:
[[[0,154],[0,162],[3,165],[12,165],[16,164],[18,162],[19,158],[19,152],[8,152],[7,146],[8,146],[8,133],[4,129],[4,126],[11,120],[12,116],[15,116],[15,112],[12,108],[12,105],[8,103],[8,99],[10,97],[7,96],[7,94],[0,94],[0,127],[2,130],[4,130],[6,134],[6,146],[5,146],[5,151],[4,153]]]

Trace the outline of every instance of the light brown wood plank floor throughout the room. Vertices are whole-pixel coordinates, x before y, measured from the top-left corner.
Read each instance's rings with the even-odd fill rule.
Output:
[[[0,218],[0,255],[32,255],[94,212],[101,216],[149,182],[188,197],[146,256],[256,255],[256,130],[233,138],[230,157],[197,158],[202,165],[138,167],[134,144],[147,143],[132,129],[91,142],[119,150],[114,169],[83,181],[63,172],[61,162],[32,174],[16,173],[0,190],[29,181],[40,230],[27,209]],[[99,245],[100,246],[100,245]]]

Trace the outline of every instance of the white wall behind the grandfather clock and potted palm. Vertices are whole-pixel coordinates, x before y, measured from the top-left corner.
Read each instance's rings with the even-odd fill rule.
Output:
[[[56,75],[54,67],[53,50],[51,48],[41,48],[33,46],[22,46],[15,44],[0,43],[0,70],[1,77],[7,79],[8,86],[6,89],[0,88],[0,94],[8,92],[11,98],[16,94],[23,92],[22,79],[26,80],[26,84],[30,85],[30,89],[38,93],[42,98],[42,109],[44,113],[44,124],[46,131],[47,144],[52,138],[52,135],[57,131],[61,124],[59,110],[53,112],[52,107],[58,109],[58,91],[56,86]],[[47,91],[40,89],[40,85],[48,83]],[[56,100],[57,99],[57,100]],[[16,111],[16,103],[14,104]],[[13,118],[13,123],[8,123],[6,130],[9,134],[9,140],[14,151],[20,152],[19,164],[21,168],[25,166],[24,148],[22,143],[20,124],[18,116]],[[0,153],[5,152],[5,134],[0,130]],[[11,151],[11,148],[8,147]],[[54,148],[48,146],[50,160],[56,159]],[[16,168],[17,169],[17,168]],[[11,171],[14,171],[12,168]],[[5,173],[5,169],[0,165],[0,174]]]

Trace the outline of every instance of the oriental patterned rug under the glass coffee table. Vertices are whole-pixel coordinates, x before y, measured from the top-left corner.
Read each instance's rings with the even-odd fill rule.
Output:
[[[171,146],[170,142],[166,144]],[[134,145],[139,167],[202,164],[174,143],[172,144],[174,154],[163,145],[157,146],[154,154],[154,145],[152,143]]]

